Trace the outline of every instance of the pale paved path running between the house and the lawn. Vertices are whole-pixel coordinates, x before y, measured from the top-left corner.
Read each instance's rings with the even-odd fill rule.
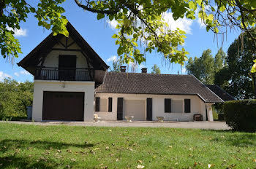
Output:
[[[0,121],[5,122],[5,121]],[[97,127],[170,127],[170,128],[197,128],[211,130],[229,130],[225,122],[125,122],[125,121],[101,121],[101,122],[20,122],[9,123],[25,125],[75,125]]]

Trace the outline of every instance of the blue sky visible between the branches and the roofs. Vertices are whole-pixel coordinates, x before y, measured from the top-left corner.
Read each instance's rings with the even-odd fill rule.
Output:
[[[116,32],[113,28],[115,22],[108,22],[108,20],[97,20],[97,15],[91,12],[85,12],[80,9],[74,1],[66,1],[63,4],[66,9],[65,15],[70,23],[77,29],[84,39],[91,45],[91,47],[98,53],[98,55],[105,60],[108,66],[112,66],[112,60],[117,57],[117,48],[115,39],[111,36]],[[189,52],[189,58],[195,56],[200,57],[203,50],[211,49],[212,54],[215,55],[219,47],[221,47],[221,39],[219,36],[219,47],[217,40],[214,40],[214,34],[206,32],[206,28],[200,23],[200,20],[179,19],[174,21],[170,12],[165,13],[165,20],[170,25],[170,29],[181,28],[186,31],[187,39],[185,39],[184,47]],[[18,63],[23,59],[34,47],[37,46],[50,31],[45,30],[37,25],[37,20],[33,15],[29,15],[26,23],[21,23],[21,30],[17,31],[15,37],[19,39],[23,54],[15,58],[15,63],[12,65],[7,62],[7,59],[0,57],[0,81],[6,77],[11,77],[19,82],[26,80],[33,81],[33,76],[23,68],[18,67]],[[231,32],[227,34],[227,39],[223,42],[223,50],[227,52],[229,45],[236,39],[238,33]],[[151,72],[151,67],[157,64],[160,67],[162,74],[187,74],[185,68],[181,69],[181,65],[168,63],[163,60],[162,56],[157,52],[152,52],[146,55],[146,63],[138,66],[137,71],[140,72],[142,67],[147,67],[148,72]]]

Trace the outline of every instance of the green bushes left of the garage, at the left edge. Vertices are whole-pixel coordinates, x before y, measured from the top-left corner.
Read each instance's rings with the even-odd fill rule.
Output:
[[[26,107],[32,105],[33,82],[4,79],[0,82],[0,119],[26,117]]]

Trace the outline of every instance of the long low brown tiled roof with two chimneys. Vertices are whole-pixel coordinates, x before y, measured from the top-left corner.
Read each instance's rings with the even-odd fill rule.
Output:
[[[206,103],[223,102],[192,75],[108,72],[97,93],[198,95]]]

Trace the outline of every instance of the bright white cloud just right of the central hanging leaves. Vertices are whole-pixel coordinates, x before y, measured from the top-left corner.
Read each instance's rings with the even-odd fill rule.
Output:
[[[162,17],[165,20],[165,22],[168,23],[168,28],[171,31],[175,31],[177,28],[179,28],[182,31],[185,31],[187,34],[192,34],[191,26],[193,20],[190,20],[187,17],[178,18],[178,20],[174,20],[172,12],[164,12]]]

